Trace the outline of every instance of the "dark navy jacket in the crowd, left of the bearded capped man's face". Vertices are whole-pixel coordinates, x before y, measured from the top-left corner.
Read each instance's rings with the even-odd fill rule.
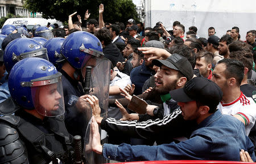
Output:
[[[135,85],[134,94],[139,95],[142,94],[142,87],[147,79],[152,76],[150,68],[147,68],[145,63],[141,64],[141,66],[133,68],[131,70],[130,78],[131,83]]]

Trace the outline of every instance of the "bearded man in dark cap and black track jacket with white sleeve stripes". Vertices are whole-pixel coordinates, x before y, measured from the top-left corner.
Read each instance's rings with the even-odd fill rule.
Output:
[[[121,103],[116,101],[117,106],[123,113],[122,121],[113,118],[101,118],[97,115],[100,109],[96,109],[94,116],[102,129],[108,132],[119,132],[130,137],[156,140],[158,144],[170,143],[174,141],[174,137],[175,140],[180,140],[181,136],[187,137],[190,135],[195,124],[194,122],[184,122],[179,106],[177,106],[176,101],[172,100],[169,91],[183,88],[187,81],[192,79],[193,70],[191,64],[187,58],[179,54],[173,54],[166,60],[154,60],[153,63],[160,67],[155,75],[155,89],[163,95],[164,101],[164,109],[159,109],[154,105],[147,106],[147,114],[154,116],[156,120],[150,119],[145,122],[138,122],[137,120],[140,121],[142,115],[128,114]],[[126,96],[129,96],[129,94],[126,93]],[[92,104],[93,101],[97,103],[97,100],[92,100]],[[162,115],[162,118],[163,115],[166,116],[163,119],[157,119],[160,118],[160,115]],[[127,120],[134,121],[127,122]],[[168,128],[172,128],[172,131],[166,131]],[[164,133],[164,135],[160,135],[160,133]]]

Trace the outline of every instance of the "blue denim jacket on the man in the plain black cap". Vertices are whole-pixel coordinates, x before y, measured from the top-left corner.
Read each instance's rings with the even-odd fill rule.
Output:
[[[254,146],[245,135],[245,126],[220,110],[199,124],[191,137],[178,144],[158,146],[104,144],[102,155],[115,161],[221,160],[240,161],[240,150],[255,161]]]

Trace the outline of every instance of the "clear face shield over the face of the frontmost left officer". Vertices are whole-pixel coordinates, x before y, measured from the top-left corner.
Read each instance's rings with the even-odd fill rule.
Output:
[[[65,112],[61,74],[57,74],[53,79],[28,82],[34,107],[43,116],[59,116]]]

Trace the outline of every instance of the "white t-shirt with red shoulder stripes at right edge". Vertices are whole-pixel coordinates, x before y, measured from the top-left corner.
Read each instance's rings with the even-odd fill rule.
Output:
[[[235,115],[238,114],[245,119],[245,132],[248,136],[251,128],[253,128],[256,118],[256,104],[253,98],[246,97],[242,92],[240,97],[230,103],[220,102],[217,106],[222,114]]]

